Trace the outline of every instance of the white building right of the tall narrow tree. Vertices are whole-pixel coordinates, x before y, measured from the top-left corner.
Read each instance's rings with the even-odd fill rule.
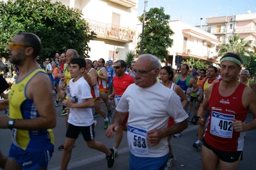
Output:
[[[207,65],[214,65],[216,60],[216,46],[219,45],[217,36],[204,31],[195,26],[191,26],[182,20],[171,20],[169,26],[175,33],[171,38],[173,39],[173,46],[168,49],[169,58],[166,65],[169,64],[173,68],[175,65],[176,56],[181,56],[182,60],[194,58],[206,61]],[[136,33],[142,32],[142,24],[137,25]]]

